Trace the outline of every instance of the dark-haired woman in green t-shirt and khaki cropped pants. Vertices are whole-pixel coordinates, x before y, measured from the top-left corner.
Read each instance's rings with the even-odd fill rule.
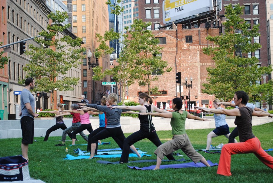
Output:
[[[182,108],[182,99],[174,98],[172,108],[174,112],[168,113],[141,113],[143,115],[152,115],[165,118],[171,118],[170,125],[172,127],[173,140],[167,141],[164,144],[157,147],[154,153],[157,155],[157,165],[154,170],[160,168],[160,164],[165,155],[170,154],[178,149],[181,149],[194,163],[200,161],[207,167],[210,165],[207,163],[207,160],[194,150],[188,135],[185,130],[185,121],[186,118],[201,120],[201,121],[210,121],[208,119],[200,118],[194,115],[189,114],[187,111],[181,110]]]

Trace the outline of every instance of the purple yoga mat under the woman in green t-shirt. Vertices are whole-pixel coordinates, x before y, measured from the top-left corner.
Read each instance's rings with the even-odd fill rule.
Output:
[[[218,163],[212,163],[210,160],[207,160],[208,164],[211,166],[218,166]],[[149,167],[133,167],[133,166],[128,166],[129,168],[135,169],[135,170],[153,170],[156,165],[152,165]],[[189,163],[182,163],[182,164],[167,164],[167,165],[160,165],[160,169],[165,169],[165,168],[200,168],[200,167],[207,167],[203,163],[194,163],[194,162],[189,162]]]

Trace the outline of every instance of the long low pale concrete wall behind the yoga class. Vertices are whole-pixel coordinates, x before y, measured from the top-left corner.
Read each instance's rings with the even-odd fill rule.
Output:
[[[187,119],[185,124],[186,130],[215,128],[214,118],[205,118],[209,118],[211,121],[197,121]],[[235,127],[234,119],[235,117],[226,117],[226,121],[229,127]],[[269,117],[253,117],[252,125],[260,125],[272,121],[273,119]],[[64,118],[64,122],[67,127],[70,127],[72,124],[72,118]],[[93,130],[99,127],[99,117],[90,117],[90,122],[92,124]],[[138,118],[121,117],[120,122],[124,133],[132,133],[140,129],[140,122]],[[153,117],[153,124],[157,131],[171,130],[170,119]],[[46,130],[55,125],[55,118],[35,118],[34,125],[34,137],[45,136]],[[0,126],[0,139],[22,137],[20,120],[0,120]],[[85,130],[84,133],[89,134],[87,130]],[[52,132],[49,136],[62,136],[62,130],[58,129]]]

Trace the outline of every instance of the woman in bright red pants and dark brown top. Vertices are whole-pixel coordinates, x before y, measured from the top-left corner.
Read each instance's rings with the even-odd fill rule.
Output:
[[[261,111],[255,111],[249,107],[246,107],[248,102],[248,95],[244,91],[237,91],[234,94],[234,102],[239,108],[225,110],[225,109],[207,109],[203,107],[197,107],[201,111],[211,112],[215,114],[225,114],[228,116],[236,116],[234,124],[238,127],[240,143],[225,144],[222,147],[219,166],[217,174],[224,176],[231,176],[230,164],[231,155],[233,154],[247,154],[254,153],[259,160],[266,166],[273,170],[273,157],[267,154],[261,148],[261,142],[252,133],[252,116],[268,116],[273,117],[273,114],[263,113]]]

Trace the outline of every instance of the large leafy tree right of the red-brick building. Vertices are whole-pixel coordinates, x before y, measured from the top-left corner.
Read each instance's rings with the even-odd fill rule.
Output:
[[[257,85],[262,74],[271,73],[271,66],[259,67],[258,58],[248,57],[248,53],[253,53],[261,48],[257,42],[253,42],[254,37],[260,36],[259,25],[249,25],[240,17],[243,14],[244,6],[225,6],[226,22],[225,34],[220,36],[208,36],[206,39],[214,42],[217,47],[203,49],[206,55],[211,55],[215,62],[215,67],[208,67],[208,83],[204,83],[207,94],[214,94],[217,98],[231,99],[238,90],[244,90],[249,94],[251,100],[260,100],[258,91],[264,90],[266,84]]]

